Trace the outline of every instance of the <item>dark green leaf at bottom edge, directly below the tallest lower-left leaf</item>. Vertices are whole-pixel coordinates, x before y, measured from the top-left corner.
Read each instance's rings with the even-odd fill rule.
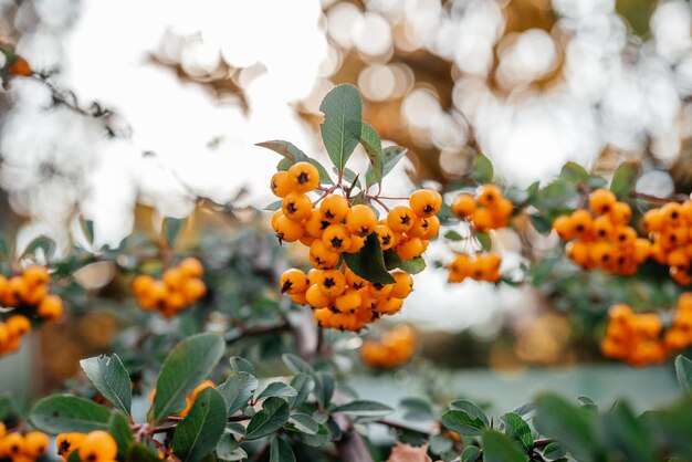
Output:
[[[200,461],[217,448],[228,417],[224,407],[223,397],[213,388],[199,393],[174,432],[174,453],[182,462]]]

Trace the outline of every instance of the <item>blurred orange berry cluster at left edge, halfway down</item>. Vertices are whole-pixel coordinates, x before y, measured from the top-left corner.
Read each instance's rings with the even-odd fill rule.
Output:
[[[31,317],[56,321],[63,315],[60,296],[49,294],[51,276],[43,266],[29,266],[20,275],[0,275],[0,305],[10,308],[0,322],[0,355],[15,351],[31,332]]]

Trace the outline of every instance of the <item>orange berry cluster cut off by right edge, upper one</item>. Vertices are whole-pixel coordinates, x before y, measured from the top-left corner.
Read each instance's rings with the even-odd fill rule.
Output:
[[[692,200],[668,202],[644,213],[643,228],[652,245],[651,256],[670,266],[671,277],[681,285],[692,284]]]

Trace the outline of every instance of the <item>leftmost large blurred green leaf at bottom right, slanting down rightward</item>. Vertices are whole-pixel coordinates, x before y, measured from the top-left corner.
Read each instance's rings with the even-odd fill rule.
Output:
[[[575,408],[555,395],[536,400],[536,430],[559,441],[578,461],[590,461],[598,452],[590,411]]]

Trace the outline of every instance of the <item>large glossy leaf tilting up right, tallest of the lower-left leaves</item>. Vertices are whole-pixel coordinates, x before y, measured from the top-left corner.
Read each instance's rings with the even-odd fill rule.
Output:
[[[181,411],[186,396],[209,376],[223,350],[223,340],[216,334],[198,334],[179,343],[164,361],[156,381],[150,423],[160,423]]]

